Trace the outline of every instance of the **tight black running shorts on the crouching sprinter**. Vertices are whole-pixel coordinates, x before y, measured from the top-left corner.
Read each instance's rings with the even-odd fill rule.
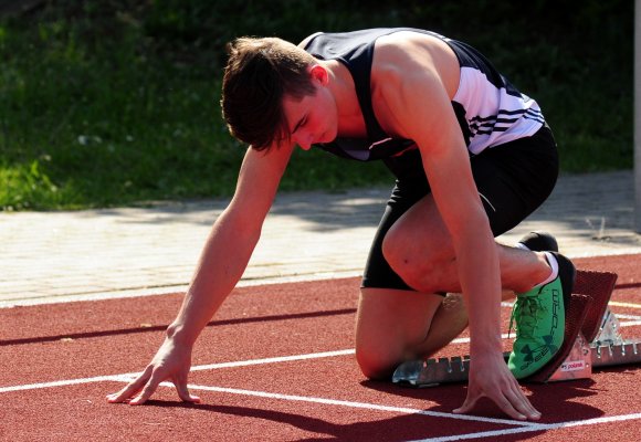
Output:
[[[408,155],[416,158],[403,161],[413,161],[420,167],[406,168],[402,175],[397,175],[369,251],[362,287],[412,290],[391,270],[381,249],[391,225],[430,193],[418,149]],[[530,137],[487,148],[470,161],[494,236],[513,229],[534,212],[549,197],[558,177],[556,143],[547,126]]]

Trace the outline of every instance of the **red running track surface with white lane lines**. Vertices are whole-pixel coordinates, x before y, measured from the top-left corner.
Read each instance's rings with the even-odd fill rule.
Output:
[[[619,274],[610,308],[629,338],[641,337],[640,259],[576,261]],[[195,348],[197,406],[171,387],[144,407],[105,401],[154,355],[180,294],[0,309],[0,440],[638,440],[638,366],[527,385],[544,412],[536,423],[509,421],[488,401],[476,417],[452,414],[464,385],[417,390],[366,380],[353,354],[357,296],[357,278],[235,290]],[[442,356],[466,351],[463,339]]]

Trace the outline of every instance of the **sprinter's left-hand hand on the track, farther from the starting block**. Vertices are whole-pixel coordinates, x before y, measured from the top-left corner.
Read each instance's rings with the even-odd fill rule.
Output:
[[[139,406],[154,394],[160,382],[171,380],[180,399],[185,402],[199,403],[200,398],[190,394],[187,389],[187,377],[190,368],[191,347],[178,345],[167,337],[145,371],[120,391],[107,394],[107,401]]]

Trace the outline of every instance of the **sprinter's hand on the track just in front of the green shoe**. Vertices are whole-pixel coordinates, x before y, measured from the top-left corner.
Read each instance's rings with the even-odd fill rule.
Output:
[[[487,397],[513,419],[540,419],[540,412],[532,406],[501,355],[474,355],[470,359],[467,397],[454,413],[467,413],[479,399]]]

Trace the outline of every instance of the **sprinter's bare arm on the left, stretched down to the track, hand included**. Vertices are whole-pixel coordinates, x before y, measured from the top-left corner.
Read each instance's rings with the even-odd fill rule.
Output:
[[[183,401],[200,401],[187,389],[191,348],[241,278],[292,150],[285,145],[266,154],[248,149],[234,197],[213,224],[180,312],[168,327],[165,341],[137,379],[107,396],[109,402],[144,403],[165,380],[174,382]]]

